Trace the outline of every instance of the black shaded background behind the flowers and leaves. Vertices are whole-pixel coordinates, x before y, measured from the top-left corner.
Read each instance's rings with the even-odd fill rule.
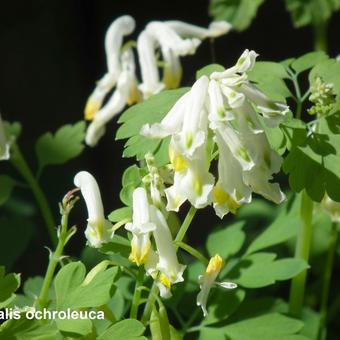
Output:
[[[116,17],[132,15],[137,22],[134,37],[151,20],[178,19],[207,26],[208,1],[132,1],[132,0],[12,0],[0,3],[0,109],[3,118],[21,121],[21,145],[35,168],[34,142],[45,131],[55,131],[65,123],[81,120],[83,107],[95,80],[106,71],[103,41],[106,29]],[[329,52],[340,53],[338,34],[340,16],[330,26]],[[233,64],[245,48],[260,54],[259,60],[282,60],[299,56],[313,48],[310,28],[294,30],[283,1],[266,1],[249,30],[232,32],[215,43],[216,62]],[[184,81],[190,84],[194,72],[210,63],[211,52],[204,42],[194,57],[183,59]],[[98,179],[105,210],[119,207],[121,174],[132,164],[122,160],[123,144],[114,142],[115,122],[105,138],[94,148],[63,166],[47,168],[42,185],[57,216],[57,201],[73,184],[79,170],[88,170]],[[11,171],[0,164],[0,173]],[[16,195],[33,201],[30,193]],[[84,206],[82,206],[84,208]],[[38,214],[37,214],[38,215]],[[85,225],[84,209],[77,208],[74,219]],[[213,214],[204,215],[211,226]],[[37,223],[41,223],[37,217]],[[202,220],[201,220],[202,222]],[[31,247],[14,269],[24,276],[42,273],[47,261],[43,244],[49,244],[43,226],[35,234]],[[205,231],[192,233],[194,242],[203,243]],[[19,236],[20,237],[20,236]],[[69,253],[78,253],[84,239],[78,236]]]

